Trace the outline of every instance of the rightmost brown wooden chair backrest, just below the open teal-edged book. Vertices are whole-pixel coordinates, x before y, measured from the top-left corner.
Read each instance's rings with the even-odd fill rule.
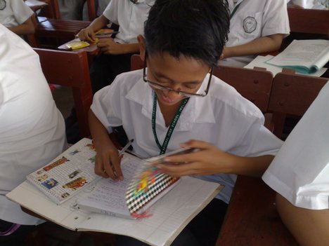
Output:
[[[269,111],[273,133],[281,137],[287,115],[303,116],[328,78],[279,73],[273,79]]]

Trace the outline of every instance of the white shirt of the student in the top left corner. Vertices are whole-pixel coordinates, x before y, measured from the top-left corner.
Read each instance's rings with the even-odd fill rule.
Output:
[[[24,23],[33,11],[22,0],[0,0],[0,24],[15,27]]]

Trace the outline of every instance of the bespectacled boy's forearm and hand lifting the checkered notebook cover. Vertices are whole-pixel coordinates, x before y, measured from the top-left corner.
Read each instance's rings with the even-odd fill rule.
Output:
[[[156,164],[162,172],[172,176],[213,175],[230,173],[260,177],[268,168],[274,156],[242,157],[217,149],[207,142],[191,140],[181,144],[183,148],[196,148],[200,151],[179,156],[169,156],[165,161],[178,165]],[[187,162],[187,163],[183,163]]]

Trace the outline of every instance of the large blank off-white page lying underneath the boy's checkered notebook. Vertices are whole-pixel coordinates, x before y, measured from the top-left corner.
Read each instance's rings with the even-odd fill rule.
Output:
[[[151,217],[131,220],[93,213],[90,219],[79,225],[79,231],[115,233],[137,238],[150,245],[170,245],[221,188],[214,182],[182,177],[174,189],[150,207]]]

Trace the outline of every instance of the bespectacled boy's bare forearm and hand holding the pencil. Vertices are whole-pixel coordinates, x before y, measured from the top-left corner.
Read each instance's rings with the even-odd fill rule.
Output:
[[[89,109],[88,118],[93,144],[95,144],[97,152],[95,164],[96,175],[122,180],[123,175],[120,168],[120,160],[117,156],[117,148],[110,140],[108,131],[95,114],[93,114],[91,109]]]

